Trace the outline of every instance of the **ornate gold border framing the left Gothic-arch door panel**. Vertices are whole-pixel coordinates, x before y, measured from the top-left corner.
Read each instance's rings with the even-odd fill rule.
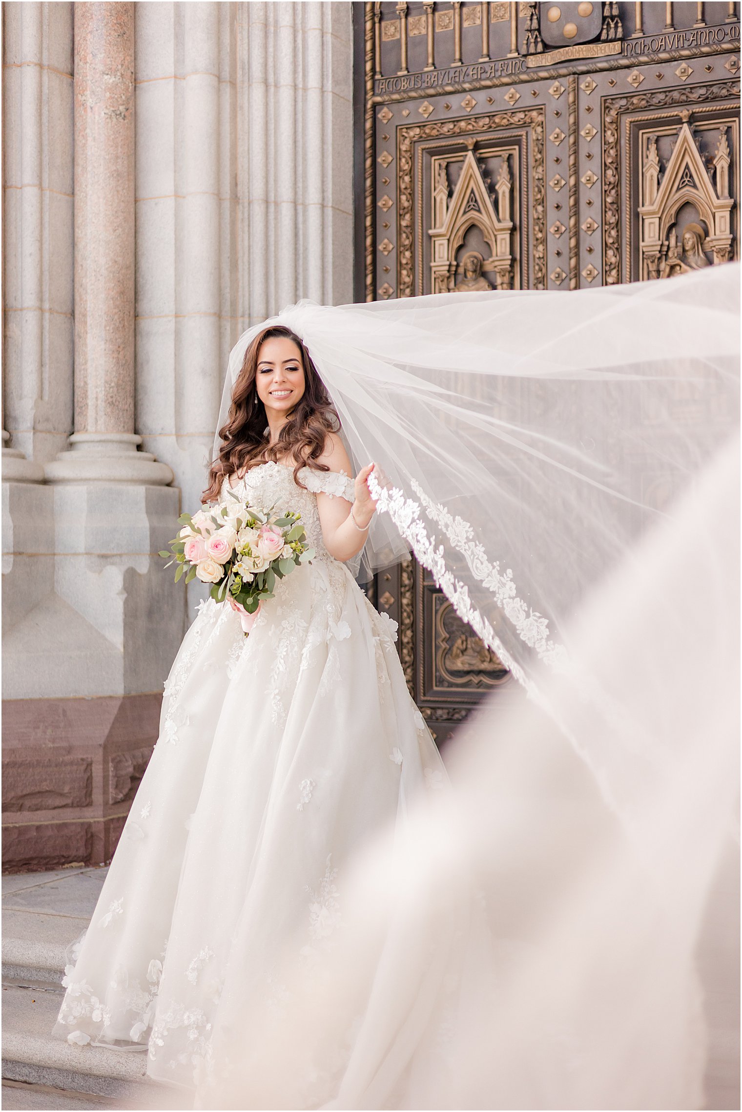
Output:
[[[547,281],[545,262],[545,127],[544,109],[515,109],[512,111],[492,112],[471,118],[437,120],[428,123],[414,123],[398,129],[398,206],[399,206],[399,270],[398,296],[412,297],[415,292],[414,250],[414,178],[413,155],[419,141],[431,139],[468,138],[475,140],[478,135],[492,132],[503,128],[530,128],[531,166],[529,168],[529,192],[532,214],[531,249],[533,258],[532,288],[544,289]],[[488,138],[491,138],[488,135]],[[529,215],[523,214],[528,221]],[[419,235],[423,235],[422,226]],[[421,290],[420,290],[421,292]]]

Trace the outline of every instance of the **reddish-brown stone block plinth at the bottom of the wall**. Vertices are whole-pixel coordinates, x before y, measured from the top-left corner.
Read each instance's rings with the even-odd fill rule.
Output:
[[[161,702],[159,693],[3,702],[3,873],[111,860]]]

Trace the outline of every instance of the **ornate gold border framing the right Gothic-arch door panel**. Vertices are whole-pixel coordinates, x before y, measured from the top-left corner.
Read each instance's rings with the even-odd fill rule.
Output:
[[[613,285],[621,281],[621,123],[624,117],[632,112],[643,112],[648,109],[666,109],[663,116],[675,118],[681,111],[701,105],[704,101],[723,102],[740,92],[739,81],[719,81],[709,85],[694,85],[686,89],[658,89],[638,92],[622,97],[606,97],[603,101],[603,281]],[[726,108],[728,106],[723,106]],[[641,116],[635,117],[641,119]],[[626,120],[625,127],[629,126]],[[649,150],[646,151],[649,153]],[[631,168],[624,170],[626,180],[631,180]],[[642,183],[643,185],[643,183]],[[626,212],[626,222],[630,212]],[[626,230],[629,236],[629,229]],[[630,269],[631,251],[628,254],[624,280],[632,278]],[[652,260],[652,269],[656,266],[659,274],[660,260]],[[649,260],[648,260],[649,266]],[[634,275],[639,278],[640,275]]]

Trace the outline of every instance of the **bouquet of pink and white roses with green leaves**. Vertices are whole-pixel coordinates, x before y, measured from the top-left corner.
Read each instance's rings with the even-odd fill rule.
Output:
[[[260,604],[273,598],[277,579],[308,563],[314,550],[307,544],[299,514],[271,507],[260,510],[228,492],[234,505],[218,512],[200,509],[181,514],[182,528],[170,542],[166,567],[177,563],[176,583],[199,578],[210,583],[218,603],[227,596],[242,610],[242,628],[249,632]]]

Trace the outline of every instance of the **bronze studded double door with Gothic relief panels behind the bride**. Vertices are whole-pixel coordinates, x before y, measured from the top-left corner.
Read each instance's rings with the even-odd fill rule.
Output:
[[[739,258],[739,4],[354,9],[367,300],[568,291]],[[373,589],[439,742],[484,694],[517,697],[414,562]]]

